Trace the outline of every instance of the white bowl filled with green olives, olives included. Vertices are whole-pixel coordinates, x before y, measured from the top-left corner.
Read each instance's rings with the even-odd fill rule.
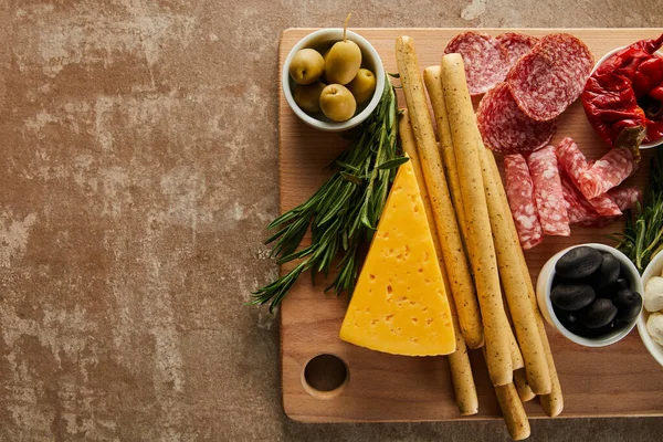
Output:
[[[322,29],[290,51],[281,88],[304,123],[319,130],[343,131],[376,109],[385,75],[382,60],[368,40],[343,28]]]

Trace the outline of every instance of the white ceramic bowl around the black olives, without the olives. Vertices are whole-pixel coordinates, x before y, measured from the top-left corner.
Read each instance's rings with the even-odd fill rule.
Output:
[[[555,264],[557,260],[561,257],[566,252],[571,249],[578,248],[580,245],[589,245],[590,248],[594,248],[600,252],[610,252],[617,257],[620,262],[622,271],[625,273],[625,276],[629,280],[630,287],[635,292],[642,295],[642,280],[640,278],[640,273],[638,273],[638,269],[635,265],[629,260],[627,255],[624,255],[619,250],[611,248],[610,245],[599,244],[599,243],[588,243],[588,244],[578,244],[570,246],[568,249],[562,250],[561,252],[556,253],[550,257],[546,264],[541,267],[539,276],[536,281],[536,299],[538,302],[539,309],[541,314],[552,327],[555,327],[559,333],[561,333],[567,339],[572,340],[576,344],[586,346],[586,347],[604,347],[611,344],[614,344],[627,336],[633,327],[635,327],[635,323],[638,322],[638,317],[632,320],[627,327],[621,327],[611,332],[604,336],[600,337],[583,337],[578,336],[569,332],[557,318],[555,312],[552,311],[552,303],[550,302],[550,291],[552,290],[552,280],[555,278]],[[640,315],[639,315],[640,316]]]

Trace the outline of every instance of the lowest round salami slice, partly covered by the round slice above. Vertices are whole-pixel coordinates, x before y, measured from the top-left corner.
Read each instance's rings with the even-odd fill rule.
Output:
[[[488,91],[476,110],[476,122],[484,144],[494,151],[518,154],[548,144],[557,122],[535,122],[514,102],[505,83]]]

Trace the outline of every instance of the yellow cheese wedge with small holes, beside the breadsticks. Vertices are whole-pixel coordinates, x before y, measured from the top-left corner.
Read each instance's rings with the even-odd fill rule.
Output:
[[[393,181],[340,338],[393,355],[455,351],[444,282],[410,161]]]

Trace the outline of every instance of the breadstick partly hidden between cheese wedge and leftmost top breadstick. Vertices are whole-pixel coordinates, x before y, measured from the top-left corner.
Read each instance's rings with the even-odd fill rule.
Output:
[[[425,189],[425,182],[423,180],[423,171],[421,170],[421,162],[419,161],[419,155],[417,154],[414,134],[412,133],[412,126],[410,125],[410,117],[408,112],[404,110],[399,122],[399,134],[401,139],[401,146],[406,154],[410,157],[412,162],[412,169],[419,182],[419,191],[423,201],[423,208],[425,215],[429,221],[431,229],[431,235],[433,236],[433,243],[435,245],[435,253],[438,254],[438,261],[440,263],[440,271],[442,272],[442,280],[444,281],[444,288],[446,293],[451,293],[451,286],[449,284],[449,277],[446,276],[446,270],[444,269],[444,262],[442,259],[442,250],[438,239],[438,229],[433,220],[433,210],[431,208],[431,201]],[[451,319],[453,324],[453,330],[455,334],[456,350],[449,358],[449,369],[451,371],[451,381],[453,383],[453,390],[455,392],[456,406],[461,415],[476,414],[478,412],[478,398],[476,396],[476,387],[474,385],[474,377],[472,376],[472,366],[470,365],[470,357],[467,355],[467,347],[465,340],[461,334],[459,325],[457,313],[455,311],[454,302],[452,297],[449,297],[449,307],[451,309]]]

